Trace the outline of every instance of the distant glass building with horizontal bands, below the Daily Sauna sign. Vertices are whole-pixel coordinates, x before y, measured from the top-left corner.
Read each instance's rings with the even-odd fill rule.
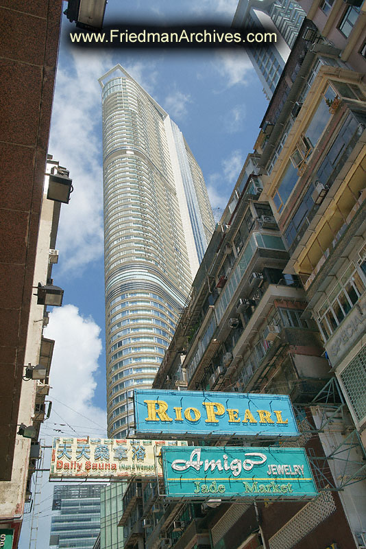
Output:
[[[100,529],[101,484],[55,486],[51,549],[93,549]]]

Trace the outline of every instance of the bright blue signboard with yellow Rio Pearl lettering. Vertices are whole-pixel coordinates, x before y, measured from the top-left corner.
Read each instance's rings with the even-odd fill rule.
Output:
[[[299,436],[287,395],[135,389],[134,421],[144,437]]]

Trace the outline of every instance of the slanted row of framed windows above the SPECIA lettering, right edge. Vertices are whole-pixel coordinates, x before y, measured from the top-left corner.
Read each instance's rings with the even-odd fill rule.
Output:
[[[319,308],[317,323],[324,340],[330,338],[363,292],[365,283],[352,262],[328,299]]]

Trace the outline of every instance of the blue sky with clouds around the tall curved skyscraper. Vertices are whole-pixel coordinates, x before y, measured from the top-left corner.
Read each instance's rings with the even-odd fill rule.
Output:
[[[106,24],[139,19],[216,19],[230,25],[236,0],[108,0]],[[198,7],[197,7],[198,5]],[[62,17],[62,32],[75,30]],[[56,340],[51,368],[53,412],[43,436],[103,436],[104,358],[101,90],[97,79],[117,63],[171,115],[202,167],[212,206],[224,208],[253,150],[267,100],[243,51],[77,49],[61,41],[49,153],[70,170],[74,192],[62,207],[54,283],[64,306],[45,336]],[[62,403],[62,404],[61,404]],[[45,463],[44,467],[48,467]],[[52,485],[44,480],[37,549],[49,546]],[[42,518],[44,517],[44,518]],[[27,526],[28,525],[28,526]],[[29,544],[25,519],[20,548]]]

